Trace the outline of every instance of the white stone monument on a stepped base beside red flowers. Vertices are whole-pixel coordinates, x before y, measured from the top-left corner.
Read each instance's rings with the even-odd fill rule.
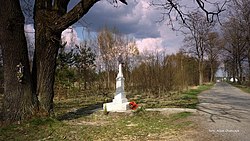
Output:
[[[104,103],[103,110],[119,112],[129,109],[129,102],[124,91],[124,77],[122,74],[122,64],[119,64],[119,72],[116,77],[116,92],[112,102]]]

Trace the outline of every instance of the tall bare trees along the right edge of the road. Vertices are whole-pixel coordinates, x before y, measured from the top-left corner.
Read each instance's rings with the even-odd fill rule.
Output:
[[[250,1],[233,0],[222,24],[225,42],[222,61],[233,82],[250,86]]]

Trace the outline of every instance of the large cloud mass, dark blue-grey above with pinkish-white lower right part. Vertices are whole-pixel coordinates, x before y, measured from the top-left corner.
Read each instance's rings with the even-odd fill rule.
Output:
[[[159,23],[161,11],[149,6],[150,0],[127,0],[128,5],[119,4],[114,7],[105,1],[100,1],[82,18],[89,23],[89,28],[98,32],[104,26],[116,28],[123,34],[136,39],[140,52],[166,51],[177,52],[182,44],[182,36],[166,22]]]

